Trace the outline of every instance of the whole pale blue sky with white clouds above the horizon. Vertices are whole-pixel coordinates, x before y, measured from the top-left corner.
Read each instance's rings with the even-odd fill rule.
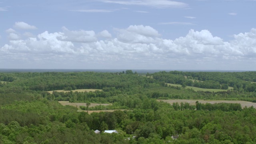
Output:
[[[256,0],[0,0],[0,68],[256,70]]]

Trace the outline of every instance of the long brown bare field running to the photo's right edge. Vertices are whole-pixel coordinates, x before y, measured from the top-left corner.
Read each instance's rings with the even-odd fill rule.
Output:
[[[220,103],[220,102],[225,102],[225,103],[240,103],[242,108],[245,106],[250,107],[253,106],[254,108],[256,107],[256,103],[254,102],[247,102],[247,101],[242,101],[242,100],[157,100],[158,102],[163,101],[172,104],[173,102],[188,102],[190,105],[196,105],[196,101],[206,104],[214,104],[214,103]]]

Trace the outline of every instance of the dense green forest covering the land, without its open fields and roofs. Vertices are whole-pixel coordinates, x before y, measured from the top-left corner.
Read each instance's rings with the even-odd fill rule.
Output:
[[[4,72],[0,73],[0,144],[256,144],[253,106],[157,101],[256,102],[255,82],[256,72]],[[86,108],[58,101],[110,105]],[[177,139],[172,138],[175,135]]]

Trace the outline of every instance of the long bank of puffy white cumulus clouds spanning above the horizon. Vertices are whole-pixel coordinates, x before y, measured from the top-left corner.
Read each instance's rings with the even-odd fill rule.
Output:
[[[190,30],[186,36],[174,40],[162,38],[150,26],[133,25],[124,29],[116,28],[114,31],[116,36],[112,36],[107,30],[95,34],[94,31],[71,31],[63,27],[62,32],[46,31],[35,38],[12,38],[9,44],[0,47],[0,57],[12,59],[15,56],[20,61],[22,58],[29,58],[30,61],[49,64],[60,62],[59,60],[72,60],[93,63],[94,66],[123,66],[134,62],[138,68],[143,68],[148,63],[162,66],[161,68],[167,68],[169,64],[216,64],[218,68],[225,62],[225,66],[236,66],[241,61],[252,64],[256,60],[255,28],[250,32],[235,34],[230,42],[213,36],[208,30]],[[12,35],[15,36],[14,33]],[[107,39],[97,40],[97,36]],[[223,68],[227,68],[225,66]]]

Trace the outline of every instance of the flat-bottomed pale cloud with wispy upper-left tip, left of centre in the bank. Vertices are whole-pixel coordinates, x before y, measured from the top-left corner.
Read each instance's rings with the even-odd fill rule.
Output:
[[[66,27],[62,27],[64,37],[60,37],[60,40],[70,41],[70,42],[95,42],[97,40],[94,31],[72,31],[68,30]]]

